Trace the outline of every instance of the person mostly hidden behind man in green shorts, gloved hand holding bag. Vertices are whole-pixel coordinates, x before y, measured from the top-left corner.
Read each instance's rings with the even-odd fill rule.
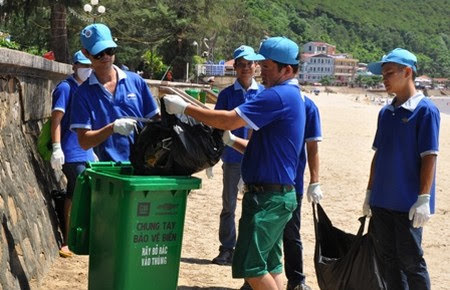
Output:
[[[286,290],[310,290],[306,285],[306,277],[303,272],[303,245],[300,236],[301,208],[303,199],[303,176],[306,161],[309,168],[309,185],[306,191],[308,202],[319,203],[323,194],[319,183],[319,142],[322,140],[319,109],[308,98],[305,99],[306,124],[305,142],[300,152],[295,178],[295,191],[297,192],[297,208],[292,218],[286,224],[283,234],[284,269],[288,285]]]

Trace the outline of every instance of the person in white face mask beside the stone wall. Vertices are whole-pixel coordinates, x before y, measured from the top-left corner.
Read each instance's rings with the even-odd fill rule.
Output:
[[[87,161],[94,161],[92,149],[83,150],[78,144],[77,134],[70,131],[70,104],[78,86],[91,74],[91,61],[81,51],[73,55],[74,73],[60,82],[52,93],[51,136],[53,152],[50,164],[55,170],[62,170],[67,179],[64,199],[63,244],[59,251],[62,257],[72,256],[67,247],[69,217],[72,196],[78,175],[86,168]]]

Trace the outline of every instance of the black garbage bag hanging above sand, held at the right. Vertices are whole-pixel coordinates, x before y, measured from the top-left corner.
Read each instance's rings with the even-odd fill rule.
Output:
[[[386,284],[370,233],[363,235],[365,217],[356,235],[333,226],[320,204],[313,204],[316,247],[314,266],[322,290],[379,290]]]

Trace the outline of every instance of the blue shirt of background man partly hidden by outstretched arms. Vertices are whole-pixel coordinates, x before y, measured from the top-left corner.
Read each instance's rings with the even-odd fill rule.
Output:
[[[253,99],[259,94],[264,87],[258,84],[254,79],[247,91],[242,88],[241,84],[236,80],[233,85],[223,89],[217,98],[215,110],[233,110],[237,106]],[[234,135],[248,139],[248,128],[242,127],[231,131]],[[226,146],[222,154],[222,161],[227,163],[241,163],[242,153]]]

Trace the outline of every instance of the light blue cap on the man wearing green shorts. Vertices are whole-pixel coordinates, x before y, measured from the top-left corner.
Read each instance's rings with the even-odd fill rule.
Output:
[[[261,43],[258,54],[247,59],[271,59],[283,64],[298,65],[298,45],[286,37],[270,37]]]

